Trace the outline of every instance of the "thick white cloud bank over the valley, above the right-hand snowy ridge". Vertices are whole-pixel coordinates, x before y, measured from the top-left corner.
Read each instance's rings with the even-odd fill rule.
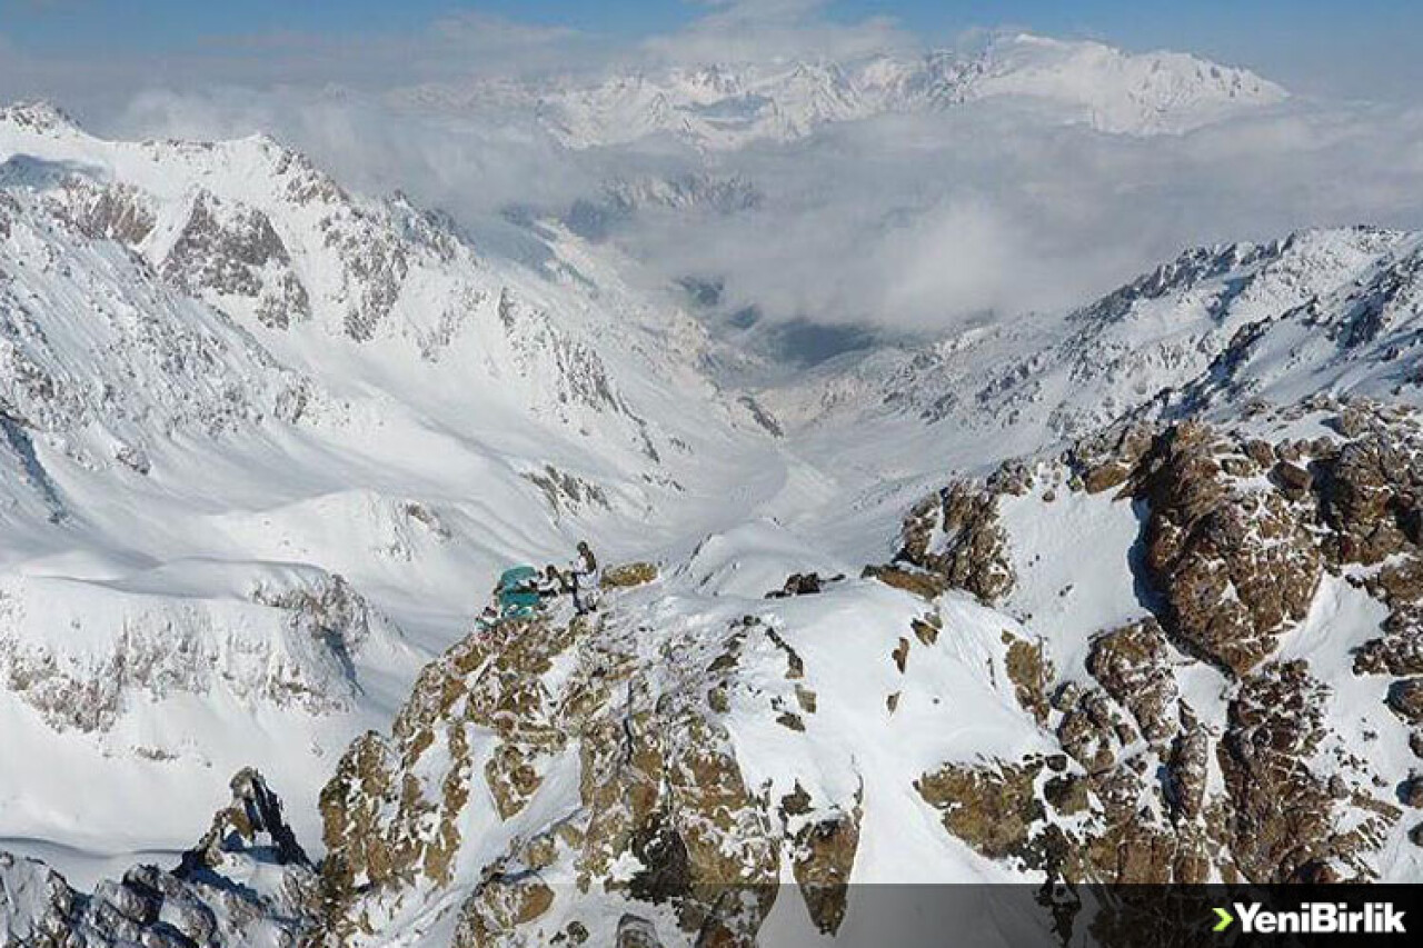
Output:
[[[942,330],[1063,309],[1195,243],[1303,226],[1423,226],[1423,111],[1298,102],[1127,138],[965,107],[723,158],[768,195],[622,233],[673,276],[778,319]]]

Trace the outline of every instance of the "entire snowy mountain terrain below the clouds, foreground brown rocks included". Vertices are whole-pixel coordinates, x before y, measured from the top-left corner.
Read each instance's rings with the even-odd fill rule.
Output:
[[[609,196],[703,199],[754,196]],[[266,138],[0,112],[0,939],[817,944],[882,939],[851,883],[1423,878],[1423,235],[764,391],[616,249],[521,248]],[[582,537],[596,612],[471,628]]]

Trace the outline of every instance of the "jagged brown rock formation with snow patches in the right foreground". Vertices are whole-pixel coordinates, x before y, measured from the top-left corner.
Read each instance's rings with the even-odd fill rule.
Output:
[[[1077,490],[1120,487],[1109,502],[1138,505],[1140,575],[1160,621],[1090,639],[1084,670],[1100,688],[1054,683],[1060,669],[1013,642],[1016,697],[1064,754],[925,773],[916,789],[949,833],[1066,880],[1375,875],[1372,860],[1402,818],[1379,790],[1399,774],[1373,771],[1335,730],[1335,699],[1308,660],[1272,656],[1305,622],[1326,569],[1386,558],[1350,579],[1389,609],[1385,636],[1359,646],[1352,666],[1393,676],[1389,707],[1423,720],[1412,663],[1419,547],[1405,528],[1419,423],[1368,403],[1322,401],[1315,417],[1332,437],[1269,443],[1198,423],[1134,423],[1063,455]],[[1380,464],[1385,450],[1392,460]],[[1284,464],[1305,477],[1282,474]],[[1202,720],[1183,697],[1177,669],[1197,660],[1238,679],[1222,719]]]

